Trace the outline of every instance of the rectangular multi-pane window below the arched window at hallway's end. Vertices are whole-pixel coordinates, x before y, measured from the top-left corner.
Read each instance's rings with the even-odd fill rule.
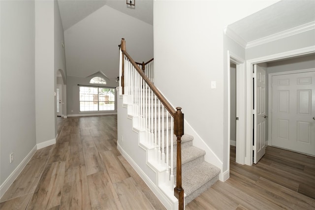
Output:
[[[80,112],[115,110],[115,89],[80,86]]]

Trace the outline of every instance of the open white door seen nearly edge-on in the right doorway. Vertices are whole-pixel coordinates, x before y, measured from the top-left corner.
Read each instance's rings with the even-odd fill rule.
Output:
[[[266,71],[254,65],[254,139],[253,163],[265,154],[266,141]]]

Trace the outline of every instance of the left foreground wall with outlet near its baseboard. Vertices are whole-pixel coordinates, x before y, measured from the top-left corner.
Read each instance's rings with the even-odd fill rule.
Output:
[[[34,1],[0,1],[0,184],[36,145]],[[9,154],[14,153],[10,164]],[[3,192],[1,192],[2,194]]]

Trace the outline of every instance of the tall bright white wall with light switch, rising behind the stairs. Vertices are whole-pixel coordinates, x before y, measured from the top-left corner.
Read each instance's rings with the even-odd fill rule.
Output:
[[[223,163],[223,172],[229,145],[229,47],[223,50],[223,28],[274,2],[154,1],[155,84],[171,104],[183,108],[185,119]],[[217,89],[210,89],[211,81]]]

